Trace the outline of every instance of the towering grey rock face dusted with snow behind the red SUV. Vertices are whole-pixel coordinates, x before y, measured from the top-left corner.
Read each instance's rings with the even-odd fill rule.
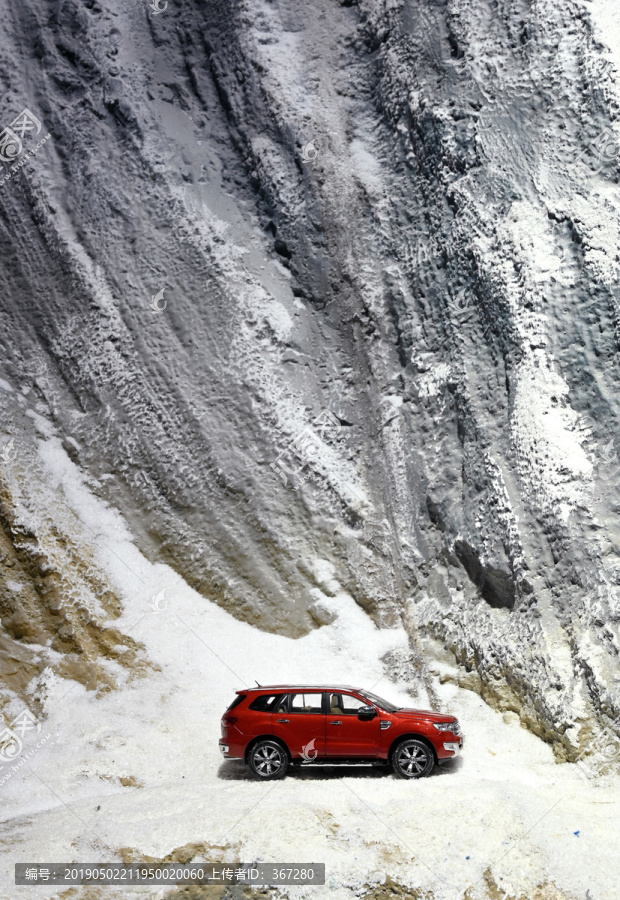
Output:
[[[51,138],[0,185],[3,377],[206,597],[300,635],[344,589],[574,758],[620,712],[594,13],[160,6],[7,13],[3,127]]]

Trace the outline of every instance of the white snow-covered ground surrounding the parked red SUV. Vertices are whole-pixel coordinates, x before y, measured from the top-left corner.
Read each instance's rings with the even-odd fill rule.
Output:
[[[339,900],[384,875],[440,900],[532,896],[538,883],[570,898],[620,896],[617,782],[586,782],[576,766],[555,764],[536,737],[446,681],[455,669],[440,651],[435,689],[461,720],[465,753],[430,778],[308,767],[263,784],[224,762],[219,719],[254,680],[360,684],[411,705],[380,661],[407,646],[404,630],[379,630],[350,597],[330,596],[321,560],[317,599],[337,613],[332,624],[293,640],[240,622],[149,563],[51,434],[39,455],[59,508],[69,505],[97,534],[95,559],[123,597],[115,627],[145,646],[153,668],[127,679],[118,666],[119,688],[101,693],[49,680],[41,733],[25,735],[24,753],[51,736],[0,786],[0,835],[10,847],[2,900],[67,896],[16,888],[15,862],[119,861],[121,848],[137,861],[187,844],[204,845],[202,858],[326,864],[326,887],[287,888],[290,897],[329,890]],[[132,895],[77,890],[72,896]]]

